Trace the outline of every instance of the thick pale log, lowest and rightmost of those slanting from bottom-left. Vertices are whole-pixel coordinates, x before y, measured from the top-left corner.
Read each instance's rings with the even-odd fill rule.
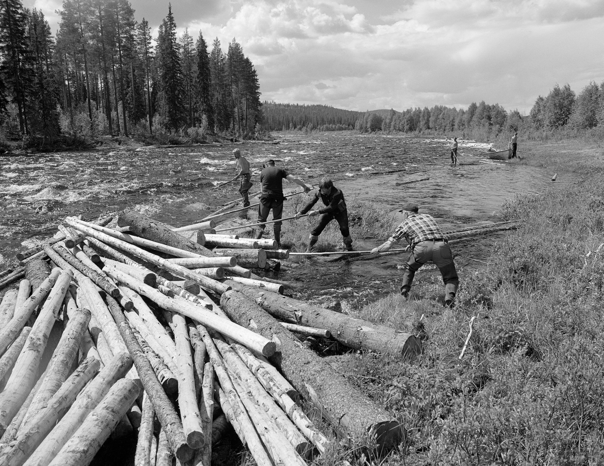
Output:
[[[50,464],[52,466],[90,464],[139,393],[140,388],[134,381],[118,380]]]

